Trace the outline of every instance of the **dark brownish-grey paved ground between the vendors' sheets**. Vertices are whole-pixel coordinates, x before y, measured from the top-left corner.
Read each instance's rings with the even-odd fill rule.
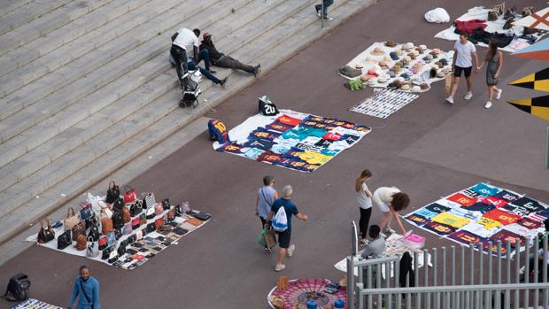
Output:
[[[438,3],[452,18],[477,4]],[[531,3],[545,5],[542,1]],[[0,282],[24,271],[33,280],[33,297],[65,305],[77,268],[89,264],[102,284],[103,308],[267,307],[267,291],[279,274],[273,271],[274,255],[266,255],[256,244],[259,220],[254,217],[254,191],[265,174],[274,175],[277,189],[292,184],[296,204],[310,218],[295,223],[293,240],[298,250],[286,261],[282,273],[291,278],[339,279],[340,273],[332,265],[349,251],[349,222],[358,220],[352,187],[363,168],[374,172],[371,188],[396,185],[410,194],[413,209],[479,181],[549,202],[549,172],[543,169],[547,124],[504,101],[491,110],[483,109],[486,91],[482,74],[476,76],[475,97],[468,103],[457,98],[455,105],[445,104],[444,84],[438,82],[387,120],[347,111],[371,90],[344,89],[344,79],[336,75],[336,68],[372,42],[393,39],[452,48],[452,42],[433,38],[447,25],[424,22],[422,15],[431,8],[415,1],[381,1],[207,115],[234,127],[257,112],[257,97],[268,94],[282,108],[374,128],[358,145],[320,170],[301,174],[215,152],[206,134],[200,135],[131,184],[140,191],[153,190],[157,197],[170,197],[176,203],[188,200],[196,208],[212,212],[214,219],[205,228],[185,236],[179,245],[134,271],[35,246],[0,267]],[[503,83],[542,67],[537,61],[507,54],[505,61]],[[537,95],[504,89],[503,99]],[[459,95],[464,92],[461,88]],[[380,220],[379,212],[373,214],[372,222],[376,220]],[[429,237],[428,246],[453,244],[422,231],[419,234]],[[0,306],[5,306],[4,300]]]

